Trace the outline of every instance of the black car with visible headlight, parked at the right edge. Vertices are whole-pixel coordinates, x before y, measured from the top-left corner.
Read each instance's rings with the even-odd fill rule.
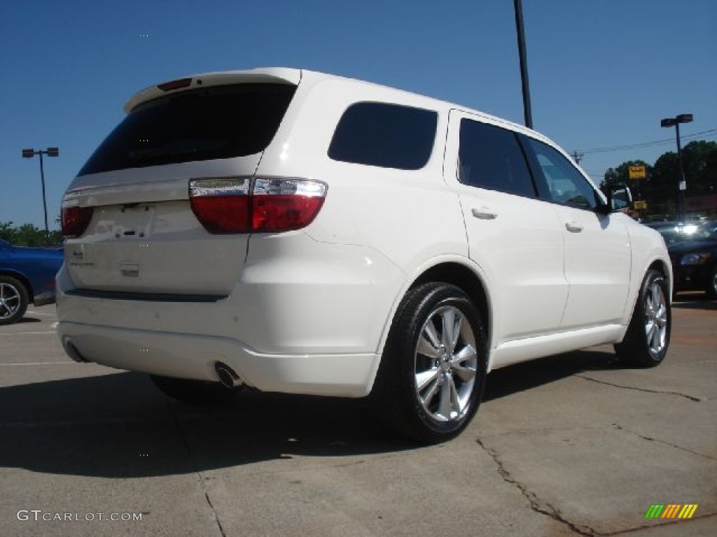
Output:
[[[717,298],[717,226],[708,224],[688,241],[668,246],[673,263],[675,292],[706,291]]]

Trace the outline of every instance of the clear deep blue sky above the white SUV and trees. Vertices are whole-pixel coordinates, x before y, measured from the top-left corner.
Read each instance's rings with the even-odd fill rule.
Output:
[[[511,0],[26,0],[2,11],[0,222],[44,225],[39,162],[22,148],[60,147],[45,160],[56,228],[62,193],[125,100],[184,74],[305,67],[523,122]],[[523,0],[523,11],[534,126],[584,151],[593,178],[674,150],[662,117],[691,112],[684,143],[717,140],[716,1]]]

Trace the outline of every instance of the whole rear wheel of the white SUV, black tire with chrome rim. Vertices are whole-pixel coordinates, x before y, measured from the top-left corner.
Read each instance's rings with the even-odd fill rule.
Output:
[[[463,291],[442,283],[412,289],[381,357],[371,394],[376,412],[411,440],[450,440],[478,410],[487,356],[483,319]]]

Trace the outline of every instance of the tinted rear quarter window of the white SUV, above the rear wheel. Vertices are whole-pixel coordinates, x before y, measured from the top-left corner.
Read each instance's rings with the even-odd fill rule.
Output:
[[[343,113],[328,156],[346,163],[419,170],[431,157],[438,114],[381,102],[359,102]]]

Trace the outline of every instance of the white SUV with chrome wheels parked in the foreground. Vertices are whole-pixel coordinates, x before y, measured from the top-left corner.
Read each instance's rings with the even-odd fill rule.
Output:
[[[300,69],[194,75],[125,111],[62,201],[77,361],[195,402],[371,395],[437,442],[491,369],[604,343],[665,357],[663,239],[532,130]]]

